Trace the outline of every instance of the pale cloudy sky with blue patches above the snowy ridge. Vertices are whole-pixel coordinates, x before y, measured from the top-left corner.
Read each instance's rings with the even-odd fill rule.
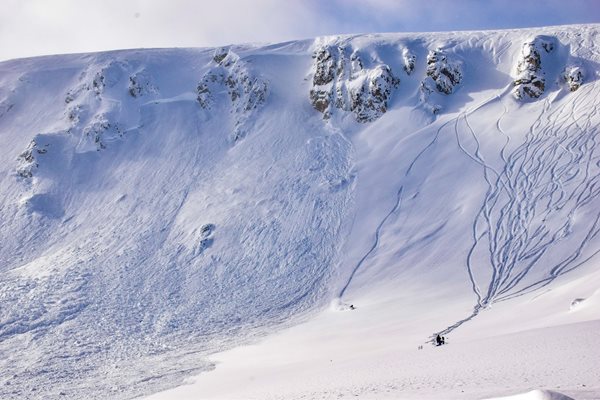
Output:
[[[600,0],[0,0],[0,60],[600,22]]]

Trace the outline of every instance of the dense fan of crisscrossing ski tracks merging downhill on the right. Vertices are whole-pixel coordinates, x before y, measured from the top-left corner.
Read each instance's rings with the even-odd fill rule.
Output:
[[[600,195],[597,107],[580,100],[598,96],[598,85],[590,85],[586,90],[592,94],[578,93],[566,107],[553,108],[546,100],[525,142],[508,157],[505,155],[507,136],[501,150],[505,165],[500,173],[487,164],[479,152],[477,134],[468,121],[472,112],[457,118],[457,143],[461,151],[482,166],[488,191],[473,222],[473,245],[466,260],[477,304],[470,316],[441,330],[440,334],[450,333],[494,302],[548,286],[600,253],[600,247],[588,249],[600,233],[600,213],[588,207],[592,215],[586,234],[582,238],[573,237],[572,240],[577,241],[572,246],[573,252],[558,259],[543,258],[559,241],[571,239],[576,214],[586,210]],[[500,128],[503,116],[504,113],[496,123],[500,133],[504,133]],[[460,122],[477,143],[473,153],[461,145]],[[562,220],[565,222],[550,223]],[[553,229],[556,226],[558,228]],[[475,270],[479,267],[473,265],[473,254],[479,247],[489,252],[489,282],[476,277]],[[541,265],[546,273],[528,279]]]

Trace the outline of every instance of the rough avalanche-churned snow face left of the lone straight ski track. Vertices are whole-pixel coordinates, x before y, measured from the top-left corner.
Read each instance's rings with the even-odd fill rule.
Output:
[[[328,301],[351,145],[291,112],[303,64],[211,53],[3,64],[0,397],[130,398]]]

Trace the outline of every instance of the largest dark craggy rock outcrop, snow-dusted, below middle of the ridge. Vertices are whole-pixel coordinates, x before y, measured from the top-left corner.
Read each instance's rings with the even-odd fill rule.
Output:
[[[325,119],[339,109],[354,113],[358,122],[371,122],[387,111],[389,99],[400,84],[388,65],[377,63],[365,68],[359,52],[351,46],[322,46],[313,58],[309,97]]]

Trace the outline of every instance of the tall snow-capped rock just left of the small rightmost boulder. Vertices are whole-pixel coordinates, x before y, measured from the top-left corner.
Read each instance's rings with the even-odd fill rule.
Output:
[[[546,74],[542,61],[555,47],[554,40],[540,36],[523,43],[514,79],[513,94],[517,99],[538,98],[544,93]]]

